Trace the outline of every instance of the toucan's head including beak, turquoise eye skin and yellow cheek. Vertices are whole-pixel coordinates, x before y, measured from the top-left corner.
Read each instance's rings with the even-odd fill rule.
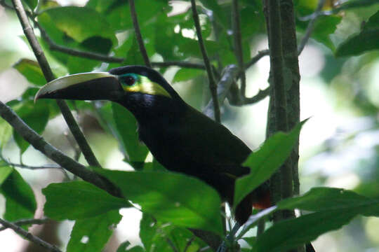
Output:
[[[118,102],[140,120],[162,116],[184,104],[163,76],[146,66],[121,66],[109,72],[57,78],[41,87],[34,101],[43,98]]]

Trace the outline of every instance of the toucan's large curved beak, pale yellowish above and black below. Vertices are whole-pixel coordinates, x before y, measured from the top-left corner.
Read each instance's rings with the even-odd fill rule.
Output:
[[[115,101],[122,94],[124,90],[119,79],[111,73],[77,73],[57,78],[41,87],[34,102],[41,98]]]

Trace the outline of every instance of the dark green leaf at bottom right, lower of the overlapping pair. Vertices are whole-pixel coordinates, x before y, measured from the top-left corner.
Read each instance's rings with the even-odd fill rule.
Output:
[[[321,211],[276,223],[257,239],[254,252],[288,251],[336,230],[350,222],[355,214],[340,210]]]

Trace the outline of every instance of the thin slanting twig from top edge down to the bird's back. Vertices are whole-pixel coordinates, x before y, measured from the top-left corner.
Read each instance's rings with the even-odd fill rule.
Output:
[[[213,76],[211,62],[209,61],[208,55],[206,53],[203,35],[201,34],[199,14],[197,14],[196,3],[194,0],[191,0],[191,8],[192,8],[192,18],[194,19],[194,25],[196,27],[196,33],[197,33],[197,38],[199,42],[199,47],[201,50],[201,55],[203,55],[204,64],[206,66],[206,72],[208,73],[209,89],[211,90],[213,106],[215,110],[215,121],[220,123],[220,105],[218,104],[217,85],[215,83],[215,78]]]

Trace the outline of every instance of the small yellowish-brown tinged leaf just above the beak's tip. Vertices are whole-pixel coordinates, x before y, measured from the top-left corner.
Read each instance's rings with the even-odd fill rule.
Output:
[[[35,85],[45,85],[46,80],[38,62],[31,59],[20,59],[16,64],[13,65],[17,71],[19,71],[29,83]]]

